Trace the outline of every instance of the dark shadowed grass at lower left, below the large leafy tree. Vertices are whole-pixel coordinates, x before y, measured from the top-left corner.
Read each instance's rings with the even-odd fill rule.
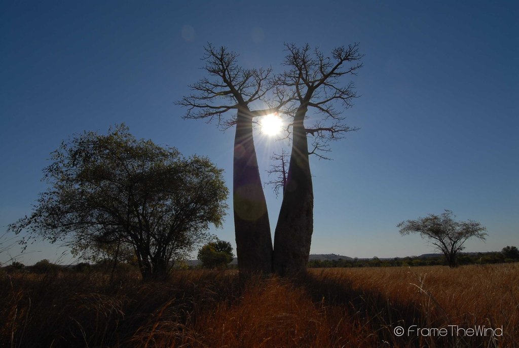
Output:
[[[196,335],[190,323],[239,297],[237,274],[174,272],[161,283],[124,275],[0,275],[0,346],[171,346]]]

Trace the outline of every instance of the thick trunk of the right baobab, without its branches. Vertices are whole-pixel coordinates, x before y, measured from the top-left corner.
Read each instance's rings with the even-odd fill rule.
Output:
[[[313,189],[304,127],[306,108],[297,110],[286,187],[274,235],[274,271],[282,276],[306,270],[313,232]]]

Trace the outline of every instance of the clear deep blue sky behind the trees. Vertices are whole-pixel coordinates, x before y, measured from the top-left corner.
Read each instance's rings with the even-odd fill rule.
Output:
[[[396,225],[444,209],[487,227],[487,242],[467,251],[519,246],[516,1],[0,1],[0,226],[30,213],[63,139],[120,122],[186,156],[209,156],[230,188],[234,130],[182,120],[174,104],[203,76],[203,46],[280,71],[283,43],[329,52],[355,41],[365,54],[354,78],[361,98],[345,115],[361,130],[332,145],[333,161],[311,160],[311,253],[429,253]],[[279,144],[255,140],[266,181]],[[265,192],[274,230],[281,199]],[[231,210],[214,233],[235,246]],[[66,250],[35,243],[28,252],[18,260]],[[11,256],[16,247],[0,261]]]

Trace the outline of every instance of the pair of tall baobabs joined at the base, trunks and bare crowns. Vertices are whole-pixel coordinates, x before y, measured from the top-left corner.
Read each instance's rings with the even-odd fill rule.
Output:
[[[240,273],[275,271],[280,275],[304,271],[310,255],[313,232],[313,189],[308,161],[308,143],[304,118],[313,94],[324,99],[310,104],[324,113],[324,119],[337,121],[327,131],[342,133],[349,127],[340,123],[338,113],[332,102],[343,102],[350,106],[350,99],[356,94],[353,85],[340,88],[336,79],[346,74],[354,74],[362,64],[341,69],[344,62],[357,61],[358,44],[347,48],[338,47],[332,51],[334,60],[325,58],[318,50],[314,57],[309,45],[298,48],[286,45],[289,51],[284,65],[289,66],[279,76],[272,76],[271,69],[243,69],[236,64],[237,54],[219,50],[211,44],[205,47],[206,71],[211,76],[221,78],[211,82],[204,78],[191,86],[198,94],[185,96],[180,105],[189,107],[185,118],[218,118],[238,108],[236,137],[234,147],[233,204],[236,233],[236,253]],[[286,90],[285,90],[286,88]],[[315,93],[317,90],[319,91]],[[302,97],[302,91],[305,97]],[[297,93],[295,93],[297,92]],[[293,122],[293,142],[290,168],[283,202],[276,226],[274,250],[267,213],[267,204],[258,170],[256,151],[252,138],[254,116],[266,114],[269,110],[255,110],[251,113],[249,104],[262,101],[272,93],[279,105],[272,110],[284,107],[291,109],[290,103],[299,101]],[[297,98],[296,95],[297,94]],[[227,103],[230,101],[230,105]],[[222,104],[223,103],[223,104]],[[194,109],[198,109],[195,111]],[[234,123],[234,119],[231,119]]]

